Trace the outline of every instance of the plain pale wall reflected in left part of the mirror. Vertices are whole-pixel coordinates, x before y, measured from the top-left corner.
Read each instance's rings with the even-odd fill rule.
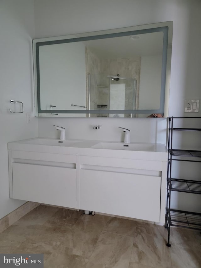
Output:
[[[50,105],[56,106],[53,110],[77,110],[71,104],[86,106],[84,43],[40,46],[39,54],[41,110],[50,110]],[[76,87],[73,87],[75,81]]]

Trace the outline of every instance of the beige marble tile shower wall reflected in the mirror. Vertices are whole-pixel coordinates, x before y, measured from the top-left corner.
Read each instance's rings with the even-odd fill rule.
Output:
[[[107,75],[136,78],[140,76],[140,57],[104,59],[97,57],[90,49],[86,48],[86,72],[90,73],[90,109],[97,109],[97,105],[109,105],[109,83]],[[125,109],[133,109],[133,83],[126,81]],[[124,82],[125,82],[124,81]],[[115,81],[117,84],[118,81]],[[139,83],[137,83],[137,91]],[[115,101],[118,101],[117,99]],[[91,115],[93,116],[93,115]],[[96,116],[96,115],[94,115]],[[97,114],[97,116],[100,116]],[[108,116],[103,114],[102,116]],[[125,115],[128,116],[129,115]]]

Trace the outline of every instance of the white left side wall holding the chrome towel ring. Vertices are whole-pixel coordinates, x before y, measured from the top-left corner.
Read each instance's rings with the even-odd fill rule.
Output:
[[[8,142],[38,136],[33,113],[32,37],[34,36],[33,1],[0,2],[0,218],[24,201],[9,199]],[[24,113],[10,100],[23,101]],[[19,107],[16,106],[16,109]],[[26,123],[26,113],[32,118]]]

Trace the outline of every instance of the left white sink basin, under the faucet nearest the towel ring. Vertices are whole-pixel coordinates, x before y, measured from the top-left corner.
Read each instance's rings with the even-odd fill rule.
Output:
[[[73,146],[80,141],[77,140],[58,140],[58,139],[45,139],[45,138],[35,138],[28,140],[21,140],[19,143],[34,144],[34,145],[49,145],[49,146]]]

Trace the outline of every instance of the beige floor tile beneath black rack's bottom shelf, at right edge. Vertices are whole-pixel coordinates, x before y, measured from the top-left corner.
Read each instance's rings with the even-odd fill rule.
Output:
[[[171,228],[170,243],[171,245],[181,246],[201,252],[201,234],[200,231],[187,228]]]

